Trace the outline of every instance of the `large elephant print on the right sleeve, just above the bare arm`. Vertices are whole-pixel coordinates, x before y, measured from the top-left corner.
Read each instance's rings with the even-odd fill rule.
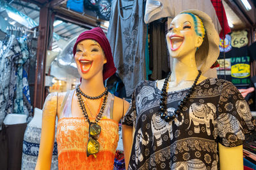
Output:
[[[236,134],[238,139],[243,140],[244,134],[241,129],[241,124],[238,122],[237,118],[228,113],[221,113],[221,115],[214,122],[214,127],[217,129],[220,138],[223,138],[223,144],[228,146],[229,142],[226,139],[227,133]]]

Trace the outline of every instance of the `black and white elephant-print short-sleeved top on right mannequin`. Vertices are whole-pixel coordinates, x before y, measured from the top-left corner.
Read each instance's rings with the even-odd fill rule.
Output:
[[[189,89],[168,92],[172,113]],[[123,124],[135,129],[128,169],[220,169],[218,143],[242,145],[244,134],[255,129],[248,104],[226,80],[208,78],[171,122],[161,119],[161,90],[144,81],[133,93]]]

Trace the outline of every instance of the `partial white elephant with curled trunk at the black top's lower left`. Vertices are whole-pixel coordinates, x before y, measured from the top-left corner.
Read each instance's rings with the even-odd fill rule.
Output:
[[[140,143],[142,143],[142,145],[145,145],[145,146],[148,145],[148,143],[149,143],[149,136],[148,136],[147,132],[146,132],[146,135],[147,135],[147,140],[143,136],[143,133],[141,132],[141,128],[138,130],[138,134],[136,136],[136,143],[135,143],[136,164],[138,164],[138,160],[140,162],[143,160]]]

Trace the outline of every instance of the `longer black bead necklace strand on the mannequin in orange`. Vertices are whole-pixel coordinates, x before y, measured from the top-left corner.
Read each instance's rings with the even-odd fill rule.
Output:
[[[77,85],[76,96],[78,98],[79,106],[80,106],[81,110],[83,111],[84,118],[86,118],[86,120],[90,124],[90,119],[89,119],[88,114],[86,112],[84,102],[83,102],[83,99],[81,97],[81,92],[82,91],[80,90],[79,85]],[[98,123],[100,121],[100,118],[102,117],[103,111],[106,107],[107,99],[108,99],[108,94],[105,93],[105,96],[104,96],[104,99],[103,99],[103,102],[102,102],[102,106],[100,108],[100,112],[98,113],[97,117],[95,118],[95,123]]]

